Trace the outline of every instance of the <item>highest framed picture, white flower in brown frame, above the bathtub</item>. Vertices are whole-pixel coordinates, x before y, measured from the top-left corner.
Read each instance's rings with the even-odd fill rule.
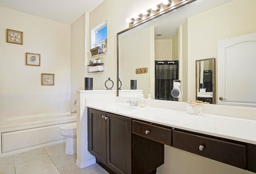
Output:
[[[23,45],[23,32],[13,29],[6,29],[6,42]]]

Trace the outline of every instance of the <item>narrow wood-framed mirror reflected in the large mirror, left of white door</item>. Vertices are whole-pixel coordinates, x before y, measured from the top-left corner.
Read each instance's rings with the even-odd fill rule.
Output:
[[[215,58],[196,61],[196,99],[216,104]]]

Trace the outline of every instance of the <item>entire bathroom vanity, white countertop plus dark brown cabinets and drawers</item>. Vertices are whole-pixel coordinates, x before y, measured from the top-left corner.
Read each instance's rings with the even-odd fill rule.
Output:
[[[256,141],[250,137],[253,133],[246,133],[255,131],[255,120],[188,115],[116,102],[86,105],[88,151],[110,173],[155,173],[164,164],[164,145],[256,172]],[[238,122],[244,125],[246,121],[247,130],[240,131],[243,127]]]

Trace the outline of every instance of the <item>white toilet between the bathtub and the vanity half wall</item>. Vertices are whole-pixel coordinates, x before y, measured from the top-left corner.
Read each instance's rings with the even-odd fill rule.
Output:
[[[68,123],[60,127],[60,135],[66,137],[66,154],[76,154],[76,123]]]

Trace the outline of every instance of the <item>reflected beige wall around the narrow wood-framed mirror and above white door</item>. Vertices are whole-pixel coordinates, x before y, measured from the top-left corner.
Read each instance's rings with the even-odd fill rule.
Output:
[[[256,32],[255,6],[255,0],[234,0],[188,18],[188,100],[196,95],[195,60],[218,61],[218,40]]]

